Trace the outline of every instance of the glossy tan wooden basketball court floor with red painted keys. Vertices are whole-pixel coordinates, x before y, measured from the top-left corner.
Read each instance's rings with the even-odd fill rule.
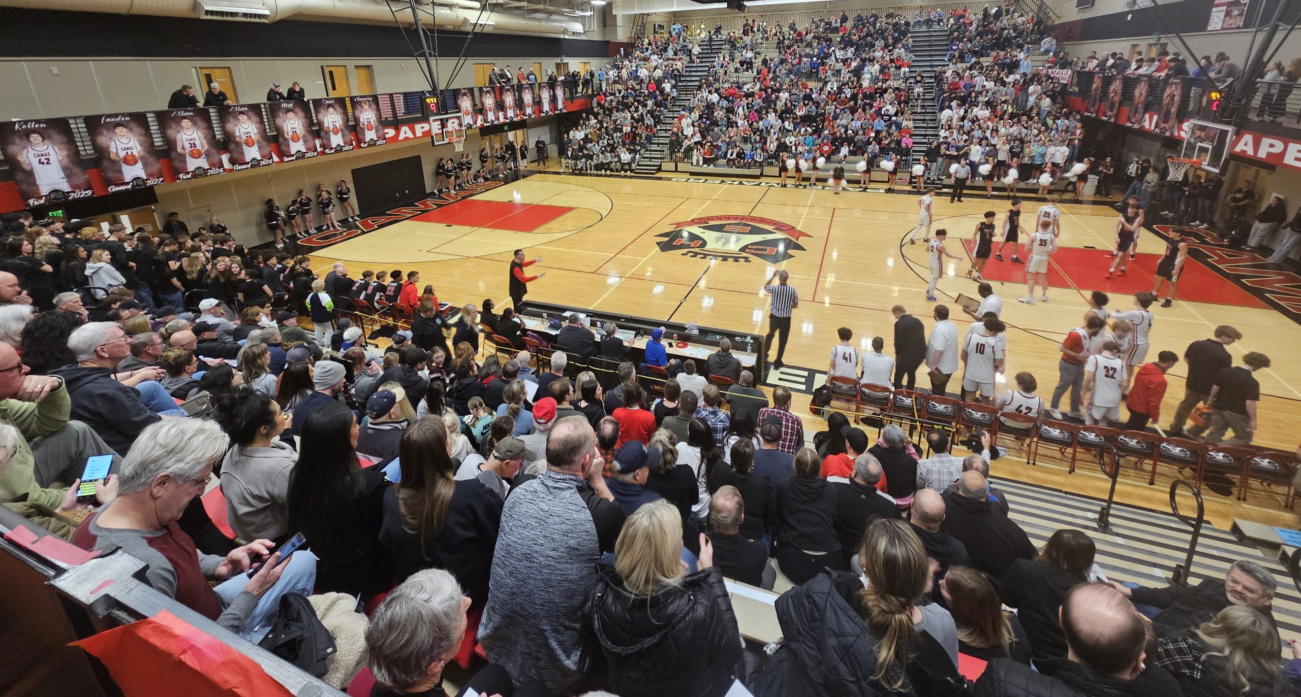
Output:
[[[921,317],[928,332],[934,324],[925,302],[924,246],[903,243],[917,218],[915,192],[847,190],[834,195],[830,190],[671,179],[541,173],[510,183],[489,182],[472,198],[429,212],[406,208],[368,216],[362,226],[372,231],[317,248],[314,265],[324,270],[345,261],[354,278],[363,270],[414,269],[420,272],[420,285],[433,283],[442,302],[479,304],[492,298],[505,304],[511,251],[524,247],[530,259],[543,257],[530,273],[546,272],[530,285],[531,299],[760,333],[768,321],[764,281],[774,269],[786,269],[800,304],[785,356],[788,367],[768,376],[768,384],[807,389],[824,380],[837,328],[851,328],[860,350],[881,335],[892,352],[892,306],[903,304]],[[986,200],[984,190],[968,190],[965,199],[950,204],[947,195],[937,194],[933,224],[948,229],[950,250],[964,256],[945,261],[938,286],[939,302],[950,306],[963,332],[969,319],[952,299],[959,293],[976,295],[976,283],[964,278],[969,261],[958,241],[971,238],[986,209],[998,212],[1000,225],[1008,208],[1006,196]],[[1039,204],[1025,200],[1024,228],[1033,225]],[[1056,384],[1056,346],[1082,324],[1089,291],[1105,290],[1112,309],[1129,309],[1133,291],[1150,290],[1155,255],[1164,250],[1164,242],[1145,230],[1131,273],[1105,281],[1110,260],[1103,255],[1112,244],[1116,212],[1095,203],[1060,207],[1063,254],[1050,274],[1050,302],[1016,302],[1025,295],[1025,272],[1024,265],[1011,264],[1010,255],[1003,264],[990,260],[985,274],[1004,303],[1007,381],[1029,371],[1046,401]],[[1214,326],[1236,326],[1244,338],[1229,347],[1235,359],[1261,351],[1274,360],[1272,368],[1257,373],[1262,401],[1254,442],[1292,451],[1301,423],[1301,364],[1288,347],[1301,342],[1301,326],[1252,283],[1232,281],[1231,273],[1213,268],[1226,264],[1197,256],[1206,255],[1189,260],[1197,269],[1184,291],[1193,299],[1176,298],[1166,309],[1153,306],[1147,360],[1160,350],[1181,356],[1189,342],[1210,337]],[[1184,375],[1181,365],[1170,373],[1163,428],[1183,397]],[[924,377],[920,384],[926,384]],[[998,391],[1006,385],[1000,376]],[[809,433],[825,428],[808,415],[807,404],[807,394],[798,394],[795,411],[808,419]],[[1108,482],[1097,467],[1068,476],[1056,464],[1010,462],[1016,459],[1013,454],[999,460],[994,477],[1106,495]],[[1168,510],[1168,482],[1163,476],[1158,486],[1147,486],[1145,475],[1128,469],[1118,499]],[[1289,525],[1296,520],[1281,511],[1281,497],[1274,494],[1253,495],[1248,503],[1206,495],[1209,518],[1219,527],[1235,516]]]

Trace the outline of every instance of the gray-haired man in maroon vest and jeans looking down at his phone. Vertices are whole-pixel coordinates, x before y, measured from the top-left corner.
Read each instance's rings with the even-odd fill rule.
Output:
[[[73,542],[144,562],[144,581],[250,641],[275,623],[286,593],[312,593],[316,558],[281,559],[271,540],[254,540],[225,558],[200,554],[177,524],[212,479],[226,450],[221,428],[206,420],[164,420],[141,433],[118,472],[117,498],[82,521]],[[265,563],[251,577],[255,563]],[[212,586],[209,581],[222,581]]]

